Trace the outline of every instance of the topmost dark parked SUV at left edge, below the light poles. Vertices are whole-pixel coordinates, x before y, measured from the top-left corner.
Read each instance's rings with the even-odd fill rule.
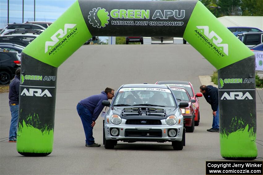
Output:
[[[37,24],[24,24],[24,23],[14,23],[9,24],[0,32],[0,35],[4,35],[8,31],[13,31],[16,29],[38,29],[38,30],[45,30],[46,28]]]

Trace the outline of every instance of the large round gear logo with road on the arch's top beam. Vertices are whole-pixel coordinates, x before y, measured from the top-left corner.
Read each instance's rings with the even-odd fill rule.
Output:
[[[93,27],[105,27],[106,24],[109,23],[109,12],[107,12],[104,8],[94,8],[92,9],[92,11],[89,12],[88,19],[88,22],[92,24]]]

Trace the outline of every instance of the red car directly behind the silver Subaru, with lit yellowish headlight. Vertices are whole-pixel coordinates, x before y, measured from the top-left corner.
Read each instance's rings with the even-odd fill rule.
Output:
[[[184,126],[186,132],[193,132],[195,129],[195,107],[193,107],[193,102],[195,100],[191,99],[187,90],[183,87],[170,86],[178,104],[180,102],[188,102],[188,107],[181,108]]]

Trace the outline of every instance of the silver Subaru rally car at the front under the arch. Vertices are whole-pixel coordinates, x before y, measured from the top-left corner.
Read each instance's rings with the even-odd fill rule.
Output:
[[[117,141],[172,142],[175,150],[185,144],[183,115],[169,86],[153,84],[122,85],[104,119],[104,146],[112,149]]]

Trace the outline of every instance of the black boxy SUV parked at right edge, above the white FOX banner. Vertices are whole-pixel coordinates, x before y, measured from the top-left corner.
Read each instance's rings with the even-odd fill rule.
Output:
[[[249,48],[263,43],[263,32],[244,32],[237,37]]]

